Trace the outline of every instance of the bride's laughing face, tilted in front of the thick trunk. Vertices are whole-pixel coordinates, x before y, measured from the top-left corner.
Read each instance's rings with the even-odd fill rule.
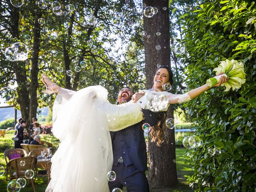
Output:
[[[164,91],[162,86],[169,82],[169,73],[165,68],[157,70],[154,77],[154,88]]]

